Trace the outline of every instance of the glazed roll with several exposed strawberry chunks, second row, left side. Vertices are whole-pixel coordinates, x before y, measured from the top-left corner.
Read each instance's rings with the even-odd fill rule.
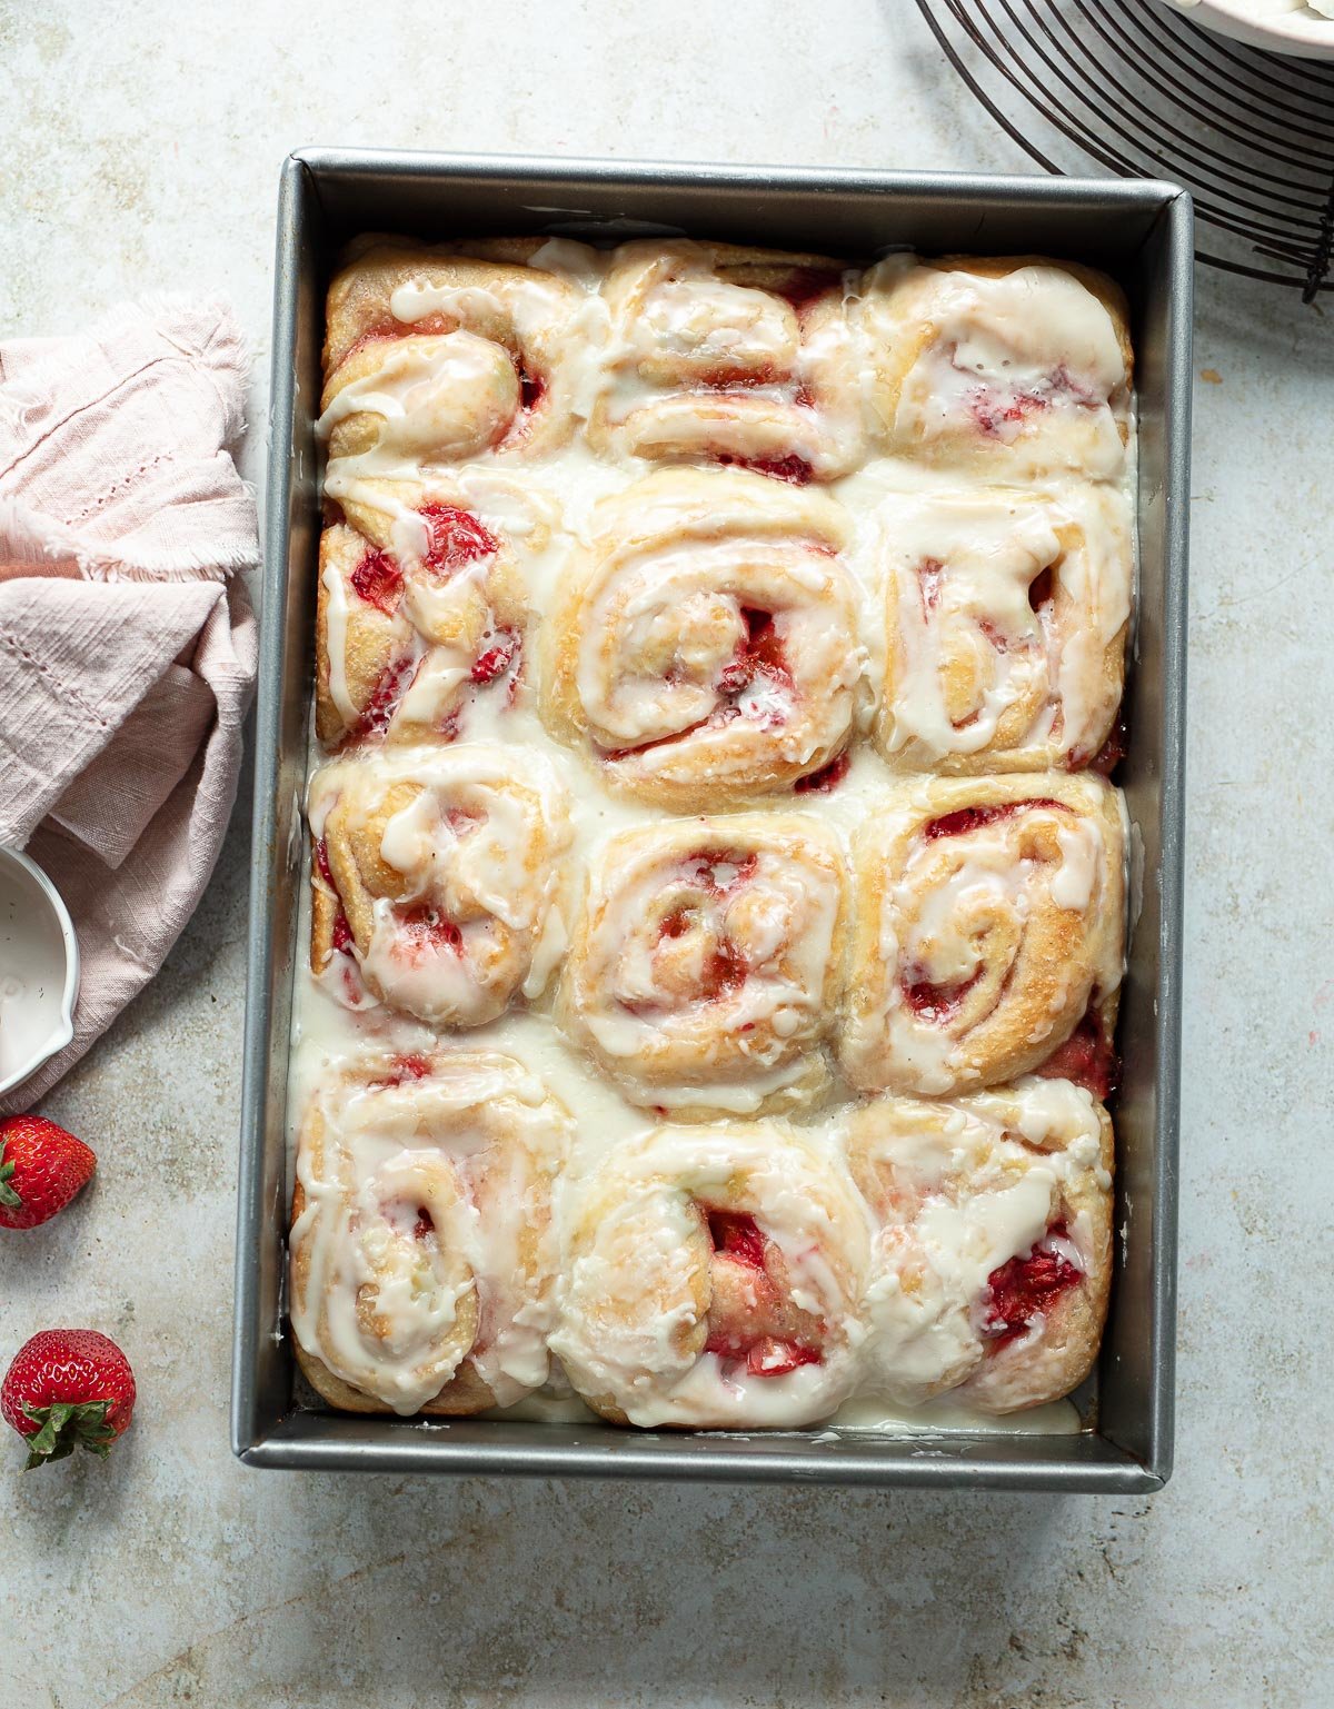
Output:
[[[519,689],[514,552],[451,482],[348,482],[340,499],[319,540],[319,740],[453,740],[475,699]]]

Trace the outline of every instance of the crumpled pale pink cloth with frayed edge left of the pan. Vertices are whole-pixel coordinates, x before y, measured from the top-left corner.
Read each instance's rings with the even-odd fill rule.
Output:
[[[217,861],[255,684],[255,499],[227,446],[248,361],[229,309],[159,301],[0,342],[0,844],[65,899],[73,1041],[161,967]]]

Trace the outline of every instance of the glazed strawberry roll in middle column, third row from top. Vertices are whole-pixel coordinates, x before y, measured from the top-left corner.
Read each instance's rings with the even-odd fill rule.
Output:
[[[844,853],[803,813],[649,825],[601,851],[559,993],[625,1095],[676,1116],[793,1109],[828,1085]]]

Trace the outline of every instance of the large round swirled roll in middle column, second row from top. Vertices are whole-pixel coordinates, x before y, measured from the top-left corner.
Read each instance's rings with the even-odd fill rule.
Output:
[[[844,513],[734,470],[603,499],[548,625],[543,711],[676,812],[791,788],[847,747],[866,665]]]

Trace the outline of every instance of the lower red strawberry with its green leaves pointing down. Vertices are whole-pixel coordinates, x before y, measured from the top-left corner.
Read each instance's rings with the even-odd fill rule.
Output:
[[[0,1415],[27,1439],[29,1471],[75,1448],[104,1458],[133,1410],[130,1360],[96,1330],[43,1330],[0,1383]]]

